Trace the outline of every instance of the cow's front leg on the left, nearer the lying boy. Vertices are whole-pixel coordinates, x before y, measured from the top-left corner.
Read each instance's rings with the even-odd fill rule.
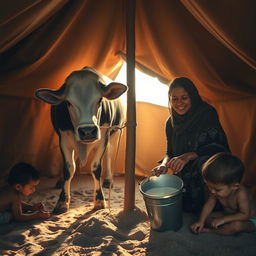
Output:
[[[59,200],[54,208],[54,213],[60,214],[66,212],[70,206],[70,184],[75,173],[75,151],[63,152],[64,167],[63,167],[63,184]]]

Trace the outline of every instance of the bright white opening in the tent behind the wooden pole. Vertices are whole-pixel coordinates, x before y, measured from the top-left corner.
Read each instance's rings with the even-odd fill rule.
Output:
[[[115,81],[126,84],[126,62],[120,69]],[[135,86],[136,101],[168,106],[168,86],[161,83],[156,77],[135,69]]]

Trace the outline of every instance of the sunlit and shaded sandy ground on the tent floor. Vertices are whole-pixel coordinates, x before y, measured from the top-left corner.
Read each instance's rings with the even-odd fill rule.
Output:
[[[53,210],[59,189],[55,179],[43,178],[29,202],[42,202]],[[178,232],[154,231],[136,181],[136,208],[123,211],[124,178],[116,177],[110,208],[93,211],[92,178],[77,175],[72,182],[68,212],[45,221],[13,222],[0,226],[0,255],[148,255],[148,256],[255,256],[256,234],[195,235],[189,225],[196,219],[183,214]],[[108,190],[106,190],[108,197]]]

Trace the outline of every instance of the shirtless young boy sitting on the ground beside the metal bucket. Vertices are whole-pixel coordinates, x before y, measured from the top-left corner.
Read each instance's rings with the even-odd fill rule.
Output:
[[[243,163],[229,153],[218,153],[206,161],[202,172],[210,195],[191,230],[222,235],[256,231],[255,201],[240,184]],[[212,212],[217,200],[223,207],[222,212]]]

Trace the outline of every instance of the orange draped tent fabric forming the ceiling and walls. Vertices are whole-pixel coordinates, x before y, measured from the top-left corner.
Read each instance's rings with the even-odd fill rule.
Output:
[[[251,187],[255,9],[254,0],[137,0],[135,27],[138,67],[168,81],[176,76],[194,81],[218,111]],[[10,0],[1,1],[0,12],[0,178],[18,161],[32,163],[42,175],[58,175],[62,160],[50,106],[35,99],[34,91],[57,89],[84,66],[114,78],[126,54],[125,0]],[[148,175],[165,154],[167,116],[167,108],[137,103],[136,174]],[[124,172],[124,152],[125,136],[116,172]]]

